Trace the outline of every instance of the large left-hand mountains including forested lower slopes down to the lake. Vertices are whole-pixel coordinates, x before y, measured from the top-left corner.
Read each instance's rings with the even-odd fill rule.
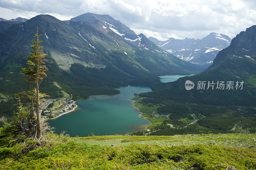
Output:
[[[52,98],[63,91],[74,100],[90,95],[114,95],[127,85],[160,82],[157,76],[189,75],[206,67],[182,61],[159,48],[148,38],[109,15],[85,13],[68,21],[37,15],[25,22],[0,22],[0,111],[12,114],[14,93],[29,89],[22,83],[31,40],[39,27],[48,75],[40,88]],[[5,97],[3,97],[5,96]],[[5,100],[5,99],[10,100]],[[7,110],[8,111],[7,111]]]

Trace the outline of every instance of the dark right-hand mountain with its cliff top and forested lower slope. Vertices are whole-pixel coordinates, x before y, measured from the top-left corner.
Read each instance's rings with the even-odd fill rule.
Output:
[[[256,25],[240,32],[230,45],[220,50],[216,58],[202,73],[191,77],[182,77],[157,92],[150,92],[143,97],[168,98],[191,103],[211,105],[251,105],[256,102]],[[195,88],[185,89],[185,81],[195,83]],[[242,90],[196,89],[198,81],[238,81]],[[206,84],[207,86],[207,84]],[[216,87],[216,84],[215,84]],[[152,94],[151,94],[152,93]],[[154,94],[155,93],[155,94]],[[156,95],[157,93],[157,95]],[[157,96],[157,97],[156,97]]]

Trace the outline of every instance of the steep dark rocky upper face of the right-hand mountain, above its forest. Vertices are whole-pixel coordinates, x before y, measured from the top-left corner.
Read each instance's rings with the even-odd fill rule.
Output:
[[[240,32],[232,39],[230,46],[221,50],[213,61],[213,65],[204,72],[216,69],[219,65],[232,73],[243,73],[245,77],[256,74],[256,25]],[[254,65],[253,65],[254,64]],[[236,76],[242,77],[241,74]]]

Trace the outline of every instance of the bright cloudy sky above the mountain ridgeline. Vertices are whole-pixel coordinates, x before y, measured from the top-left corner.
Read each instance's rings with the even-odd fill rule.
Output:
[[[69,20],[86,12],[108,14],[159,40],[202,38],[211,32],[231,39],[256,25],[255,0],[0,0],[0,18],[50,14]]]

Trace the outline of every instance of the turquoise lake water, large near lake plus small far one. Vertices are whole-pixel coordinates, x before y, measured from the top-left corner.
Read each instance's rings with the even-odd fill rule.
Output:
[[[175,81],[187,75],[160,76],[162,82]],[[71,137],[126,134],[146,130],[151,122],[139,117],[138,109],[132,107],[134,93],[151,91],[145,86],[127,86],[118,89],[115,96],[95,95],[89,100],[76,102],[79,108],[55,120],[49,120],[55,133],[66,131]]]

